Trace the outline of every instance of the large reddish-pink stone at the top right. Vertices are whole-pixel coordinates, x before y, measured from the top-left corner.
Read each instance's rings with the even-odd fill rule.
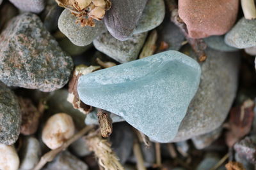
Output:
[[[179,0],[179,17],[191,38],[228,32],[236,22],[239,0]]]

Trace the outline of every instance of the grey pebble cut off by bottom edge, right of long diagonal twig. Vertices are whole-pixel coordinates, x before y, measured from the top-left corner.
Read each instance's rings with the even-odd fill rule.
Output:
[[[88,166],[68,151],[61,152],[43,170],[87,170]]]

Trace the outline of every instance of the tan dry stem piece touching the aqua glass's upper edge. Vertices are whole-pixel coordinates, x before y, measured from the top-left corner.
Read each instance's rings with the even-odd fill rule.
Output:
[[[148,57],[156,51],[156,40],[157,40],[157,31],[154,29],[150,32],[145,45],[140,53],[140,59]]]

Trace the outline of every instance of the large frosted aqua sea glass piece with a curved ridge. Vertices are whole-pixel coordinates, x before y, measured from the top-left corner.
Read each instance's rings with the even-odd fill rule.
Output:
[[[168,51],[81,76],[77,91],[83,103],[115,113],[164,143],[175,137],[200,74],[195,60]]]

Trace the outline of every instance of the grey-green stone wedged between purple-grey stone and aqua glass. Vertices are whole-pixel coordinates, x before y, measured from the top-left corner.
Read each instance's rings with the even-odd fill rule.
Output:
[[[100,52],[124,63],[138,58],[146,38],[147,32],[144,32],[133,35],[127,41],[120,41],[111,36],[109,32],[105,32],[93,41],[93,45]]]

